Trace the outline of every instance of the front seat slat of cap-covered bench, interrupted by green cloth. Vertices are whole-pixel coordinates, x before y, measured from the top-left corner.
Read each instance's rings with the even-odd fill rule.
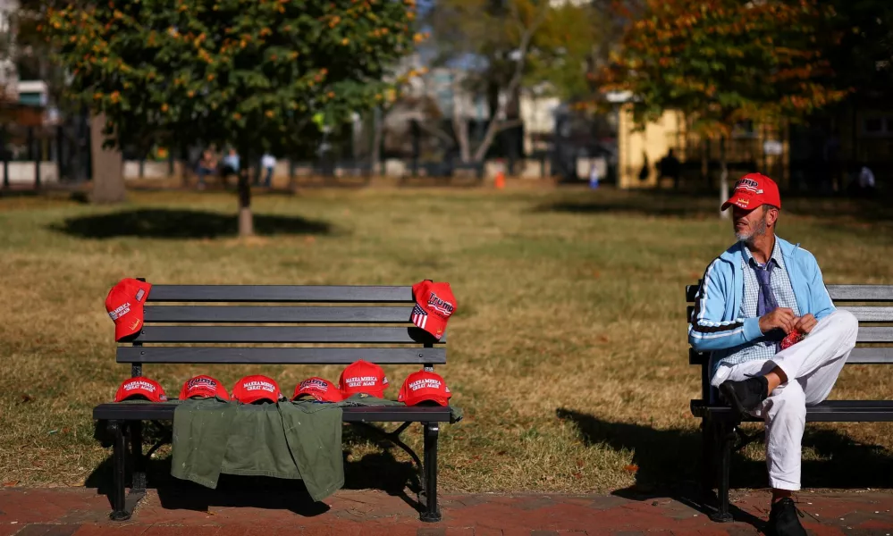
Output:
[[[342,420],[346,423],[394,422],[394,423],[449,423],[450,409],[443,406],[346,406],[342,407]],[[96,420],[123,421],[170,421],[176,405],[173,404],[100,404],[93,408]]]

